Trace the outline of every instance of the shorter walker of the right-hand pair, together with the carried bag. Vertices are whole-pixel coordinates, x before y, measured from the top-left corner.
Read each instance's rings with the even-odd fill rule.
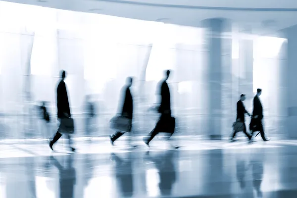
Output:
[[[242,94],[240,96],[240,99],[237,102],[237,117],[236,117],[236,123],[234,124],[234,132],[233,132],[233,136],[231,138],[231,141],[234,141],[234,138],[236,136],[237,132],[243,131],[244,134],[246,134],[247,138],[249,139],[249,141],[251,141],[252,136],[250,134],[247,133],[247,126],[245,123],[245,114],[248,114],[249,116],[251,116],[251,114],[249,114],[245,108],[244,102],[246,100],[246,95]],[[238,126],[238,127],[236,127]]]

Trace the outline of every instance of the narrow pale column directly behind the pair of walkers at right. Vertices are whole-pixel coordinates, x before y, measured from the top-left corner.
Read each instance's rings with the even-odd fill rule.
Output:
[[[251,34],[251,28],[245,27],[240,29],[242,35]],[[253,40],[242,36],[239,40],[239,94],[246,94],[245,102],[248,111],[251,110],[251,101],[253,99]],[[239,97],[239,96],[238,96]]]

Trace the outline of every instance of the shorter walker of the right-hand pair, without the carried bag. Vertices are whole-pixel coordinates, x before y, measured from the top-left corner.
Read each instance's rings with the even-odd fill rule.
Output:
[[[246,134],[247,138],[249,140],[251,140],[251,137],[252,136],[247,133],[247,126],[246,126],[246,123],[245,123],[245,114],[248,114],[249,116],[251,116],[251,115],[247,112],[247,110],[245,108],[245,105],[244,105],[244,102],[243,102],[245,100],[246,100],[246,95],[242,94],[240,96],[240,100],[238,100],[238,102],[237,102],[237,117],[236,117],[236,121],[237,122],[242,122],[244,124],[244,131],[243,132],[244,132],[244,134]],[[237,133],[236,131],[233,132],[233,136],[231,138],[231,141],[234,140],[234,138],[236,136],[236,133]]]

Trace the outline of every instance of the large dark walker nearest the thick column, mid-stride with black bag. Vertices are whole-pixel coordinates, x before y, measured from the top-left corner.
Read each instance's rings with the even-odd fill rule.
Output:
[[[171,117],[171,101],[170,101],[170,90],[167,84],[167,80],[170,76],[170,71],[165,71],[165,78],[159,83],[160,95],[158,112],[161,114],[155,128],[148,134],[148,138],[144,139],[144,142],[149,147],[150,141],[160,132],[170,133],[170,137],[174,133],[175,118]],[[175,147],[178,148],[178,147]]]

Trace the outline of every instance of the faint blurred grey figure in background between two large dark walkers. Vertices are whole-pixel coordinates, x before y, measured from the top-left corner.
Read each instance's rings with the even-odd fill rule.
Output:
[[[91,136],[91,125],[92,125],[92,120],[95,117],[95,109],[94,109],[94,104],[90,99],[90,96],[86,96],[86,104],[85,104],[85,135],[86,137]]]

